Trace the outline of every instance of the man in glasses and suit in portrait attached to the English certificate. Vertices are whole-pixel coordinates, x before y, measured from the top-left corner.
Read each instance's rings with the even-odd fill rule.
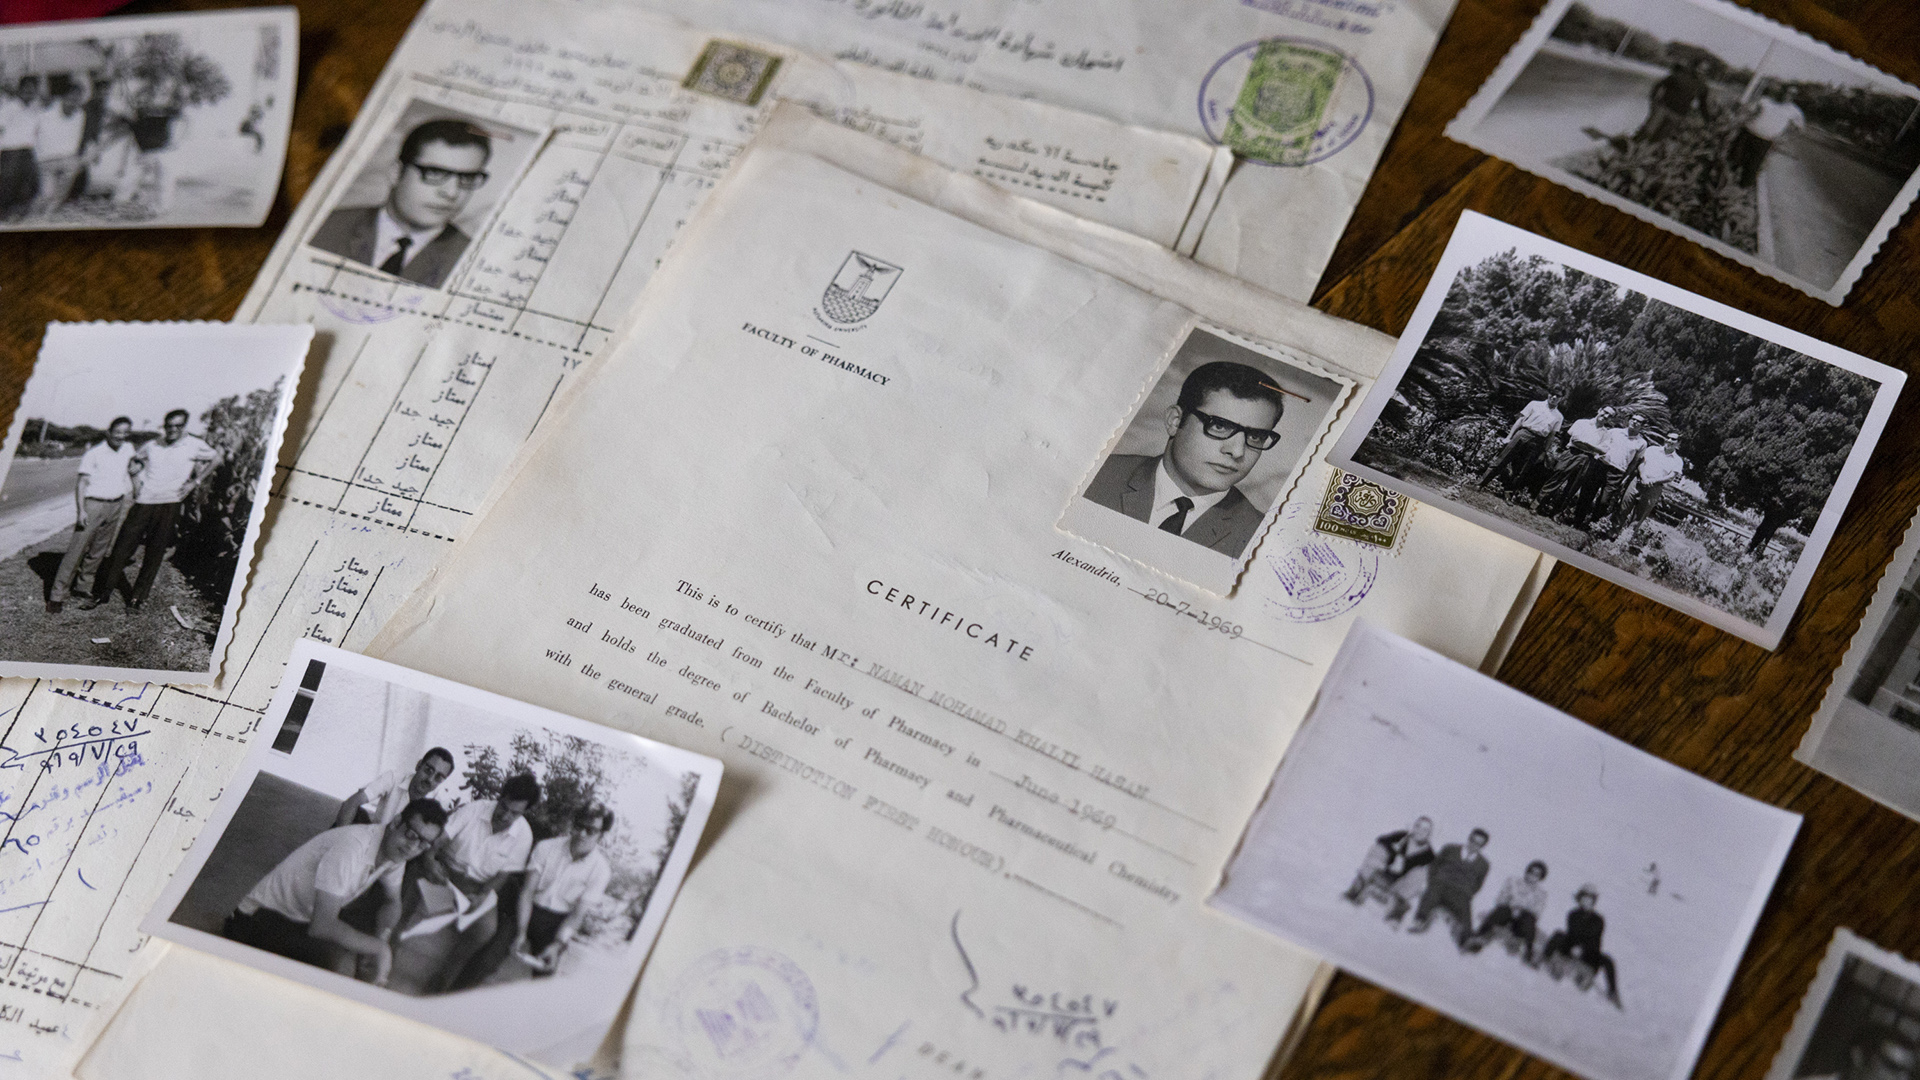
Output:
[[[1202,363],[1167,405],[1167,448],[1108,457],[1087,498],[1236,559],[1265,511],[1235,484],[1281,442],[1284,411],[1284,394],[1258,367]]]

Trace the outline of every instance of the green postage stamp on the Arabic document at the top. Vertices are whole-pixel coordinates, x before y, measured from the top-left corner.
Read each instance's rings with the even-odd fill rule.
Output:
[[[1260,42],[1223,142],[1258,161],[1306,163],[1344,69],[1346,58],[1332,50],[1298,40]]]

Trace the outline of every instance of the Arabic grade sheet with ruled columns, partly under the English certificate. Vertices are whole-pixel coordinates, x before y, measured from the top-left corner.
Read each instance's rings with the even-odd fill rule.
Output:
[[[947,86],[712,46],[636,12],[428,4],[238,313],[309,321],[317,342],[219,682],[0,680],[0,1009],[15,1019],[0,1036],[17,1034],[0,1057],[46,1074],[84,1047],[286,651],[363,648],[445,557],[787,81],[954,167],[1008,165],[995,183],[1033,158],[1029,181],[1075,194],[1018,190],[1160,242],[1219,165],[1187,136],[1035,102],[970,111]],[[401,204],[422,229],[399,229]]]

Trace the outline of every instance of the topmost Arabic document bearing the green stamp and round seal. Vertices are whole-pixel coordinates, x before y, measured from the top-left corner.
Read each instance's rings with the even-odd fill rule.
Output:
[[[643,0],[818,56],[1227,146],[1181,250],[1308,300],[1453,0]]]

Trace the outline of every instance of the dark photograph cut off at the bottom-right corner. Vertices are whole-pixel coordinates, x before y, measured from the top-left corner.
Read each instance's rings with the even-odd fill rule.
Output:
[[[1920,965],[1836,930],[1766,1080],[1920,1076]]]

